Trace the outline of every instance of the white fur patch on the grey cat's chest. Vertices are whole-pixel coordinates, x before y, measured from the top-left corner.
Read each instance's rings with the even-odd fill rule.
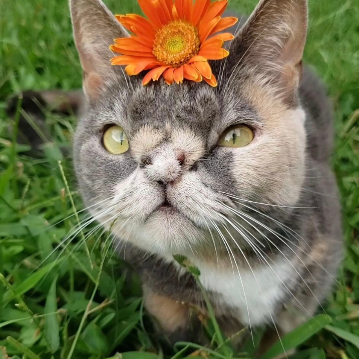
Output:
[[[238,310],[244,325],[261,325],[271,321],[278,300],[288,289],[283,283],[295,274],[283,260],[277,264],[257,266],[253,272],[233,264],[226,269],[194,261],[201,271],[200,281],[206,290],[218,293],[218,304]]]

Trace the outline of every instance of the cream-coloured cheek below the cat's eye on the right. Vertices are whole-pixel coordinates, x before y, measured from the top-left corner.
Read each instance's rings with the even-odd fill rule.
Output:
[[[263,131],[256,143],[233,149],[232,175],[241,196],[277,205],[297,202],[304,178],[302,140],[290,141],[281,131]]]

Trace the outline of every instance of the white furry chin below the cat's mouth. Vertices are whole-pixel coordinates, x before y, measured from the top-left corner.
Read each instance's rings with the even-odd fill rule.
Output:
[[[126,225],[126,229],[131,243],[156,254],[191,253],[204,243],[201,229],[171,206],[160,206],[144,223]]]

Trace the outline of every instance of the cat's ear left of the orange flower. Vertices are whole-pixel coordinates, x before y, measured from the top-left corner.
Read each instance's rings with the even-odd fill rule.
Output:
[[[129,34],[101,0],[70,0],[74,39],[84,70],[84,92],[95,98],[118,69],[110,64],[109,45]]]

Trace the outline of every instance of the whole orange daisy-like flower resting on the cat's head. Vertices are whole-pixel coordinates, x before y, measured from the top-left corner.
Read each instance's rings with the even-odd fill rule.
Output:
[[[121,55],[111,59],[112,65],[127,65],[128,75],[150,70],[143,85],[163,76],[168,85],[183,79],[206,81],[217,86],[207,60],[220,60],[229,55],[222,48],[233,39],[221,33],[238,19],[221,18],[228,0],[138,0],[148,19],[140,15],[116,15],[117,20],[133,34],[115,39],[112,51]]]

